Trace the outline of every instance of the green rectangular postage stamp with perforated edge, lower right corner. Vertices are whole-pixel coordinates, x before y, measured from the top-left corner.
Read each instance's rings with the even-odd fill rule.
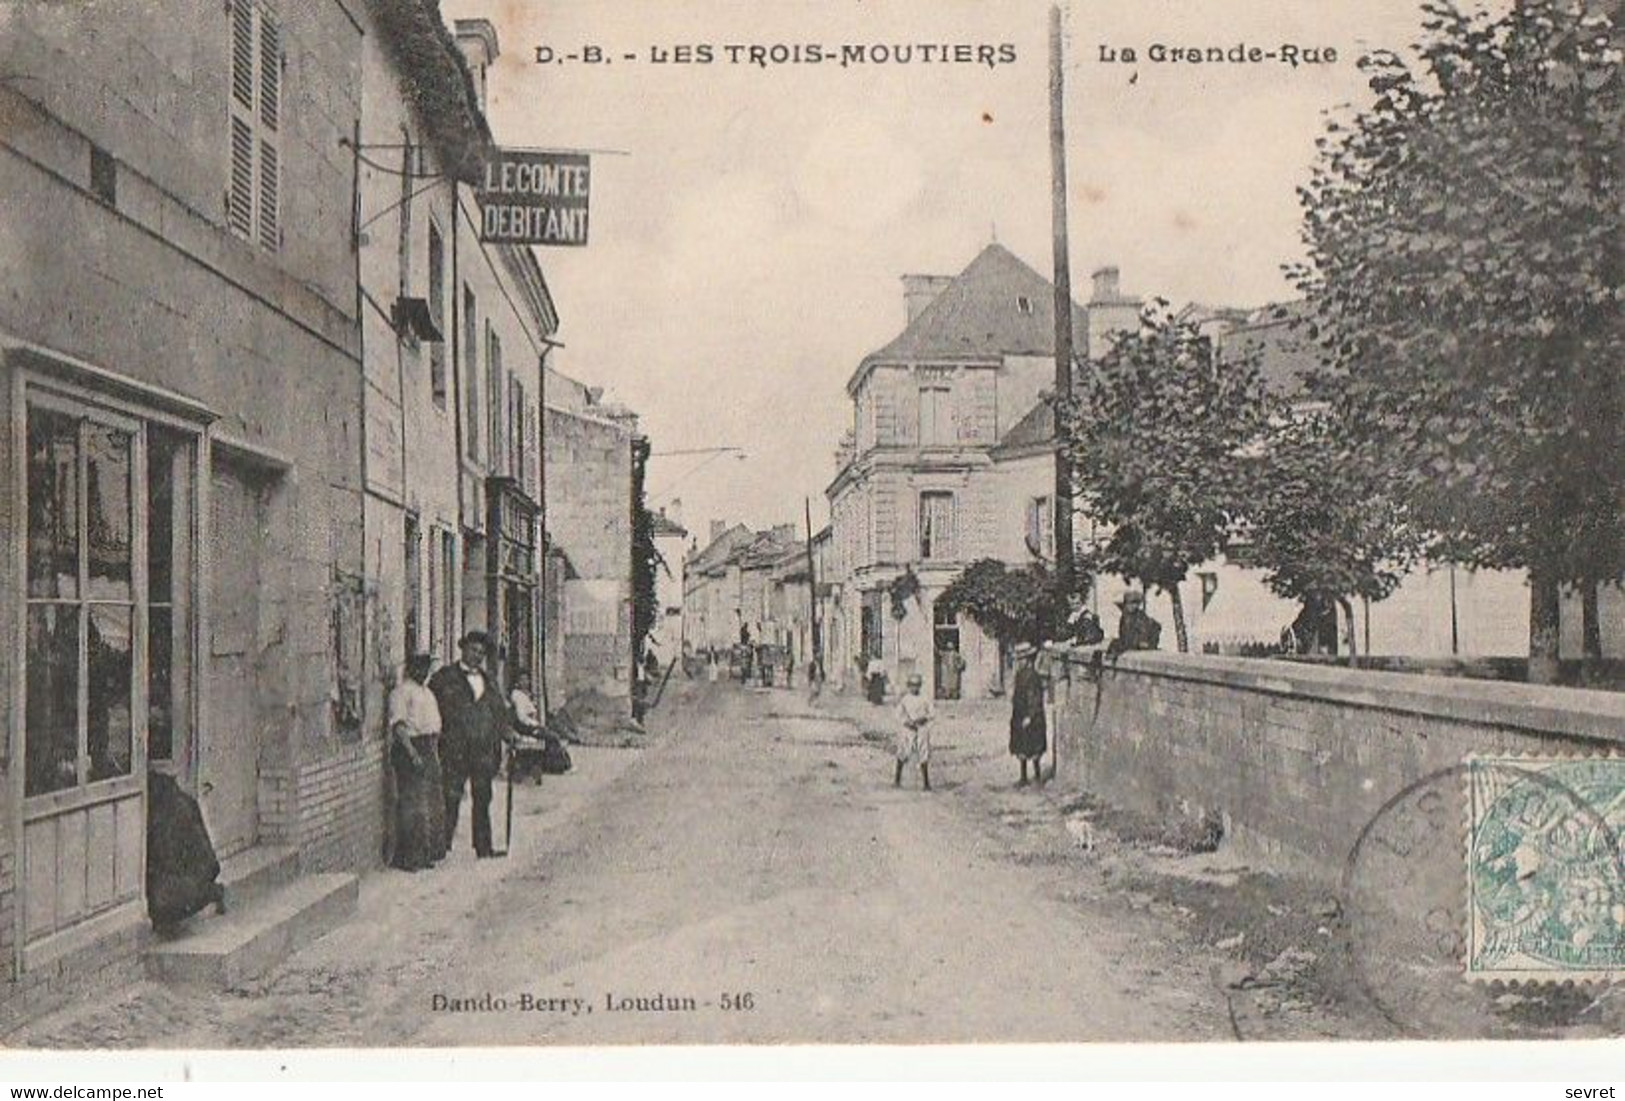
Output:
[[[1625,757],[1467,760],[1467,978],[1625,973]]]

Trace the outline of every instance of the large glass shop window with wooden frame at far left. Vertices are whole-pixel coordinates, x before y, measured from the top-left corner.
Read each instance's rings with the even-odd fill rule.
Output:
[[[195,464],[193,435],[31,396],[26,796],[130,776],[143,732],[156,758],[190,736]]]

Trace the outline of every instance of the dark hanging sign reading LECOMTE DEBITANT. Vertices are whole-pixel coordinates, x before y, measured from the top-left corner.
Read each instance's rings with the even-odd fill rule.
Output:
[[[585,153],[497,149],[479,185],[479,240],[585,245],[592,159]]]

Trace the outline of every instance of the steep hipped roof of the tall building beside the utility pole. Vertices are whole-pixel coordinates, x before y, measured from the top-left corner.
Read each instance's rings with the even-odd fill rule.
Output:
[[[1024,305],[1025,302],[1025,305]],[[1072,304],[1072,341],[1087,354],[1089,313]],[[999,361],[1055,354],[1055,286],[1004,245],[988,245],[884,348],[858,364],[855,391],[876,364]]]

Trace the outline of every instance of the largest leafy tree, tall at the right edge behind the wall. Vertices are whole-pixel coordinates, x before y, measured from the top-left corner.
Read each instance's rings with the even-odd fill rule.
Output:
[[[1424,10],[1419,60],[1363,58],[1373,106],[1321,138],[1294,276],[1324,393],[1438,549],[1529,570],[1552,679],[1560,586],[1594,607],[1625,572],[1618,16]]]

